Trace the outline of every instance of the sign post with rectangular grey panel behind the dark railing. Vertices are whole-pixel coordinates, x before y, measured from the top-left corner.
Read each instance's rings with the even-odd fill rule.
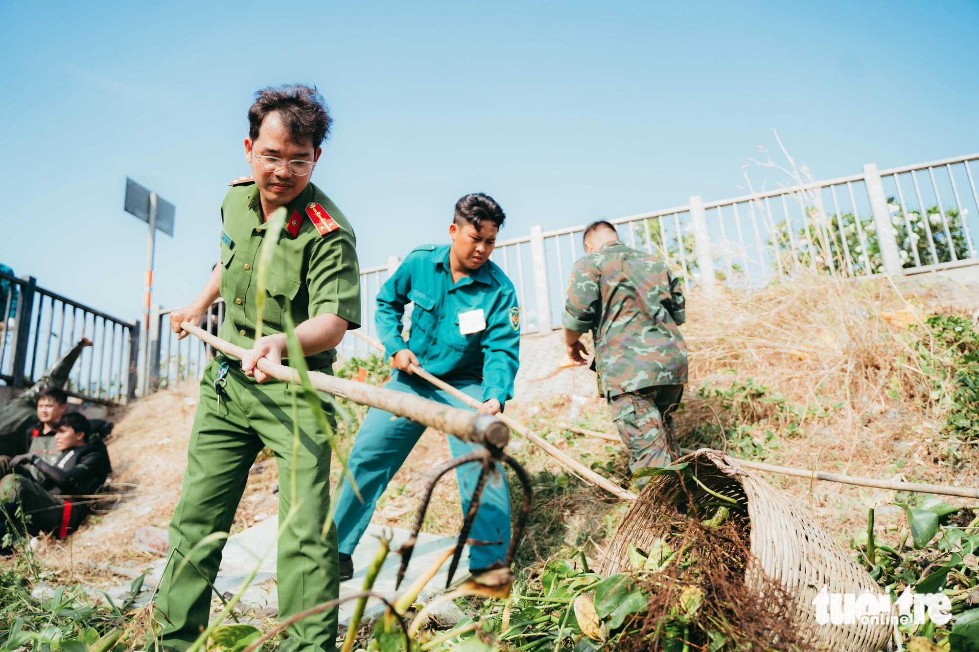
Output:
[[[146,275],[143,280],[143,321],[139,333],[139,350],[143,363],[139,365],[139,396],[146,396],[149,390],[151,370],[147,365],[157,359],[156,351],[151,351],[150,341],[150,306],[153,297],[153,263],[157,249],[157,230],[173,237],[173,216],[175,209],[172,204],[160,198],[157,193],[139,185],[129,177],[125,180],[125,204],[123,210],[134,215],[150,226],[146,239]],[[160,346],[159,342],[156,346]]]

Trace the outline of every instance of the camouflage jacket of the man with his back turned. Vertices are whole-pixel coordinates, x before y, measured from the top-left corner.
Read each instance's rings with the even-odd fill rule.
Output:
[[[613,242],[575,262],[562,323],[591,331],[598,386],[611,397],[686,383],[685,308],[665,262]]]

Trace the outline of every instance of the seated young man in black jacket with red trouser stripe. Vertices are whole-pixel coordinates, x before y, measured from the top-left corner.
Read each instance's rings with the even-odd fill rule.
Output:
[[[70,412],[51,426],[57,460],[51,464],[37,453],[23,453],[11,460],[14,472],[0,480],[0,535],[14,535],[13,527],[28,536],[42,532],[68,536],[91,511],[88,496],[112,472],[105,445],[97,436],[89,435],[92,427],[88,419]],[[29,518],[22,520],[17,514],[19,505],[23,516]]]

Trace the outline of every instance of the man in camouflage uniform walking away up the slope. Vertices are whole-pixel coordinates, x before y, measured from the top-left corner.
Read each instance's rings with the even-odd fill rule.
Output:
[[[562,320],[568,356],[586,363],[580,338],[590,330],[598,390],[629,449],[629,469],[668,466],[677,450],[667,426],[686,382],[679,284],[658,257],[619,242],[609,222],[584,229],[584,251],[571,272]]]

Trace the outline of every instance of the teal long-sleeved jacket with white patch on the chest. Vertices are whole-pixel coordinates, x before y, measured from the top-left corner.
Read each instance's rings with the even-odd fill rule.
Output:
[[[513,284],[487,260],[474,273],[452,284],[448,245],[425,245],[408,254],[377,296],[375,324],[386,353],[411,349],[422,366],[448,381],[479,381],[483,400],[503,404],[513,397],[520,366],[520,308]],[[414,303],[407,344],[401,333],[404,306]],[[463,334],[460,327],[485,328]],[[471,322],[477,322],[473,325]]]

